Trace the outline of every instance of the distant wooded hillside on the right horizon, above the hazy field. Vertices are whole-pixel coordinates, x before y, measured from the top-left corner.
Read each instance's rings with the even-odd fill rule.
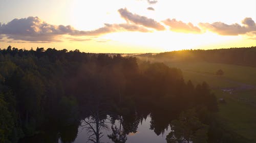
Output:
[[[203,61],[256,67],[256,47],[212,50],[180,50],[159,53],[154,55],[153,58],[168,58],[174,62]]]

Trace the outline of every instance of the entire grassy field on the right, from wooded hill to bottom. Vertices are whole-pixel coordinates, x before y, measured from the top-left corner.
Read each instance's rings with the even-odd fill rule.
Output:
[[[256,142],[256,68],[216,63],[172,63],[170,67],[180,68],[185,81],[195,85],[206,81],[217,98],[224,98],[226,104],[219,104],[220,119],[233,131]],[[224,71],[217,76],[217,70]],[[232,89],[231,93],[223,92]]]

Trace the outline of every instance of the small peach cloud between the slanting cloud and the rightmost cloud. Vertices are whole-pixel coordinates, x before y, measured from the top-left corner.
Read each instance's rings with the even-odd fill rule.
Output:
[[[184,23],[177,21],[176,19],[166,19],[162,21],[165,25],[170,27],[170,31],[181,32],[181,33],[201,33],[199,27],[194,26],[192,23]]]

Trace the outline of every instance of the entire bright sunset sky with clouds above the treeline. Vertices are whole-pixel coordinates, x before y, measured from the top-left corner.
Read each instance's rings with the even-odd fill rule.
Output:
[[[145,53],[256,46],[255,0],[0,0],[0,48]]]

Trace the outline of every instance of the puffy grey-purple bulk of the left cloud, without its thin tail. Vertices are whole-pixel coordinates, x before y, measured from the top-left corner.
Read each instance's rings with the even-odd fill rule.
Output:
[[[70,25],[51,25],[38,17],[13,19],[0,26],[0,34],[8,39],[24,41],[58,41],[57,35],[73,34],[78,31]]]

